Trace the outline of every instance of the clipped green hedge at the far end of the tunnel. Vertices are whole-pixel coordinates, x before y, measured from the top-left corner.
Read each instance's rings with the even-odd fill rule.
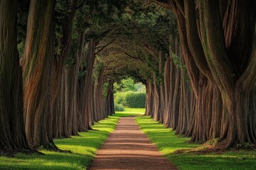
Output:
[[[128,108],[145,108],[146,94],[143,92],[128,91],[124,96],[124,106]]]

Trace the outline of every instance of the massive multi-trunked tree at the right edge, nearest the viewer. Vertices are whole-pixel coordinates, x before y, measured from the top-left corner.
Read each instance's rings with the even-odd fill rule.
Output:
[[[194,140],[220,137],[226,147],[254,143],[255,1],[156,3],[173,11],[178,21],[198,103]]]

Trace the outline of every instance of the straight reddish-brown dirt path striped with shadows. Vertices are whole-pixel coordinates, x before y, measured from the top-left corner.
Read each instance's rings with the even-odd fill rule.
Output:
[[[139,130],[134,118],[120,118],[117,128],[97,151],[90,170],[176,169]]]

